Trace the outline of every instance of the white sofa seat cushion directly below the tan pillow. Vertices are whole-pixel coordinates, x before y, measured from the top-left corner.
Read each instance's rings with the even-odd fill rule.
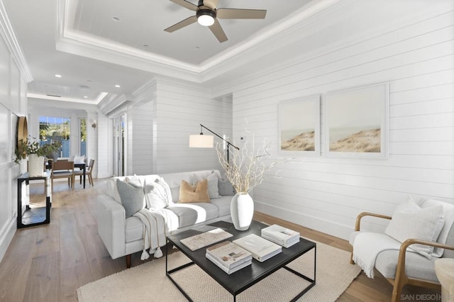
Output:
[[[218,217],[218,207],[211,203],[175,203],[167,209],[178,216],[179,228]]]

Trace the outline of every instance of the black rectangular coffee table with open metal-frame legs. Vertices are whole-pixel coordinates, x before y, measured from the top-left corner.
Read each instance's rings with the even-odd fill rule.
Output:
[[[240,269],[238,272],[234,272],[233,274],[226,274],[223,272],[222,269],[216,266],[213,262],[209,259],[206,259],[206,247],[203,247],[199,250],[189,250],[185,245],[183,245],[180,240],[190,237],[193,235],[197,235],[200,233],[207,232],[209,230],[213,230],[215,228],[222,228],[226,230],[226,232],[231,233],[233,237],[228,238],[227,240],[233,241],[240,237],[244,237],[249,234],[257,234],[260,235],[260,230],[262,228],[266,228],[267,225],[263,223],[258,223],[257,221],[253,221],[250,225],[249,230],[246,231],[238,231],[235,230],[232,223],[227,223],[225,221],[219,221],[218,223],[212,223],[210,225],[204,225],[198,228],[194,228],[192,230],[185,230],[179,233],[172,233],[167,235],[167,247],[166,247],[166,255],[165,255],[165,274],[167,277],[177,286],[179,291],[183,293],[183,295],[189,300],[192,301],[192,298],[177,284],[177,281],[172,278],[171,274],[174,272],[179,271],[180,269],[184,269],[185,267],[189,267],[190,265],[196,264],[201,269],[209,274],[211,278],[216,280],[218,284],[221,284],[224,289],[230,292],[233,295],[233,301],[236,301],[236,296],[245,291],[250,286],[258,283],[258,281],[270,276],[270,274],[276,272],[278,269],[287,269],[289,272],[297,274],[301,278],[309,281],[309,286],[307,286],[301,293],[295,296],[292,301],[297,301],[298,298],[304,295],[306,291],[309,291],[315,285],[315,276],[316,276],[316,243],[311,242],[309,240],[305,240],[301,238],[296,245],[293,245],[289,248],[282,247],[282,252],[274,257],[267,259],[265,262],[258,262],[257,260],[253,259],[253,264]],[[187,264],[183,264],[182,266],[176,267],[175,269],[168,270],[167,268],[167,256],[169,255],[169,243],[172,243],[177,247],[180,251],[186,255],[191,262]],[[314,279],[309,278],[308,276],[304,276],[299,272],[294,271],[287,267],[287,264],[292,262],[294,259],[297,259],[301,255],[304,255],[309,250],[314,249]]]

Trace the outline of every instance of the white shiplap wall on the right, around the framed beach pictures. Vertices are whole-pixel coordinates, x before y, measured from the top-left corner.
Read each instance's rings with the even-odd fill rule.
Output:
[[[269,172],[254,190],[256,209],[347,239],[361,211],[392,214],[409,195],[454,203],[453,28],[454,12],[446,11],[228,87],[233,137],[248,136],[247,126],[259,145],[277,142],[279,101],[389,82],[389,158],[326,157],[322,143],[320,157],[297,157]],[[323,108],[322,99],[322,142]],[[279,157],[277,144],[271,151]],[[384,228],[367,221],[365,228]]]

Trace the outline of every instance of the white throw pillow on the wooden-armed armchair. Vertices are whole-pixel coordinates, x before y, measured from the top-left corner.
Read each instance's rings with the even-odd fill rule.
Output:
[[[384,233],[399,242],[409,238],[436,242],[443,223],[443,206],[420,208],[409,196],[404,203],[397,206]],[[410,245],[409,248],[431,259],[433,247]]]

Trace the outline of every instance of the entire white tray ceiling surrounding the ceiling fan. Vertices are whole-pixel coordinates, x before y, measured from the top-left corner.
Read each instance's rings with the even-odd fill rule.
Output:
[[[165,32],[194,15],[169,0],[0,1],[33,76],[28,96],[98,104],[154,77],[212,87],[292,64],[292,57],[411,23],[431,0],[219,0],[218,8],[267,10],[265,19],[219,20],[224,43],[198,23]]]

